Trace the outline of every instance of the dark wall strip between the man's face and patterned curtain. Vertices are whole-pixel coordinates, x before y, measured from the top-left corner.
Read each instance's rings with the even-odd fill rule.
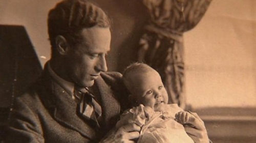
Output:
[[[97,3],[112,20],[112,43],[108,56],[109,69],[122,72],[136,61],[139,38],[147,13],[138,0],[90,0]]]

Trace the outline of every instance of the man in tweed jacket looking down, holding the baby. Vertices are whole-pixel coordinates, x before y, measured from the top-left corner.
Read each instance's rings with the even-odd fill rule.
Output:
[[[49,12],[48,32],[52,57],[37,82],[14,100],[6,142],[134,142],[139,126],[114,128],[126,96],[121,74],[106,72],[106,14],[88,2],[62,1]],[[208,141],[197,123],[192,134]]]

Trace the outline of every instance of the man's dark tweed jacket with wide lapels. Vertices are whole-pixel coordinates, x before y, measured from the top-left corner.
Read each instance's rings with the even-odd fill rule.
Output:
[[[105,72],[95,80],[104,123],[97,129],[77,114],[76,102],[45,68],[41,78],[15,98],[5,142],[98,142],[120,115],[120,79],[120,73]]]

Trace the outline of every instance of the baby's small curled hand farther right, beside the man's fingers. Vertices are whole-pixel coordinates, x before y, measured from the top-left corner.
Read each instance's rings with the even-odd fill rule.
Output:
[[[195,117],[187,111],[180,111],[175,115],[175,121],[179,122],[182,125],[189,124],[190,120],[193,120]]]

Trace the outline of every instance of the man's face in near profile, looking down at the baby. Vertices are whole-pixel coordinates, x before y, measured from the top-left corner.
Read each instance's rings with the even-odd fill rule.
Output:
[[[67,55],[67,70],[72,82],[91,87],[100,72],[108,70],[105,55],[110,50],[110,28],[84,28],[81,39],[82,42],[71,48]]]

